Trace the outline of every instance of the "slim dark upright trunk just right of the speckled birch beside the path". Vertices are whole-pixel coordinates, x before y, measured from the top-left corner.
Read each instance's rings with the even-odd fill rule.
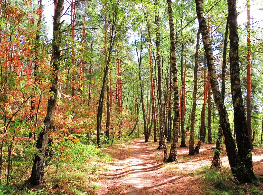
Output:
[[[181,26],[183,25],[183,19],[181,19]],[[182,34],[182,32],[181,32]],[[186,147],[185,144],[185,130],[184,130],[184,104],[185,104],[185,83],[184,83],[184,43],[182,42],[182,51],[181,51],[181,145],[180,147]]]

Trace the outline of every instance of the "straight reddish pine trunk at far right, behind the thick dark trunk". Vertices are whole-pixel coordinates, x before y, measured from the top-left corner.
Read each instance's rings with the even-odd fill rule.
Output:
[[[247,68],[247,94],[246,94],[246,114],[247,114],[247,131],[250,149],[252,145],[252,129],[251,129],[251,48],[250,48],[250,0],[247,0],[247,55],[246,55],[246,68]]]

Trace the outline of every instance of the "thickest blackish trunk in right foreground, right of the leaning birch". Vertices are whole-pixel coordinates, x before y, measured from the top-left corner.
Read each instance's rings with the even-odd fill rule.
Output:
[[[236,144],[238,155],[245,166],[246,174],[251,179],[256,179],[253,172],[252,154],[250,147],[249,133],[247,131],[246,113],[243,104],[242,91],[239,75],[238,56],[238,34],[237,34],[237,12],[236,1],[227,0],[229,13],[229,65],[232,101],[234,105],[234,126],[236,129]],[[251,136],[250,136],[251,138]]]

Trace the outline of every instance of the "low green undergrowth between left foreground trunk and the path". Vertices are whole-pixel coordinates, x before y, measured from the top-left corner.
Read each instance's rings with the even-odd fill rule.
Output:
[[[105,165],[112,157],[97,147],[76,138],[65,140],[55,153],[47,158],[45,182],[39,186],[30,186],[26,179],[12,187],[0,186],[0,195],[81,195],[94,194],[100,188],[96,183],[98,171],[105,170]]]

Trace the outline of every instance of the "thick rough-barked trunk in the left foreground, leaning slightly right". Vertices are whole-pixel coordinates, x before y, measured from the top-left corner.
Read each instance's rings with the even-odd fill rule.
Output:
[[[44,128],[40,132],[37,139],[37,149],[39,152],[36,153],[34,157],[33,167],[31,177],[29,178],[30,183],[32,184],[42,184],[44,182],[44,166],[45,166],[45,152],[48,146],[49,140],[49,131],[53,129],[55,112],[56,112],[56,103],[57,103],[57,94],[58,94],[58,72],[60,64],[60,42],[61,42],[61,32],[60,28],[62,23],[60,23],[61,14],[63,11],[64,0],[54,1],[54,17],[53,17],[53,39],[52,39],[52,86],[49,90],[49,93],[54,94],[48,99],[47,114],[44,119]]]

